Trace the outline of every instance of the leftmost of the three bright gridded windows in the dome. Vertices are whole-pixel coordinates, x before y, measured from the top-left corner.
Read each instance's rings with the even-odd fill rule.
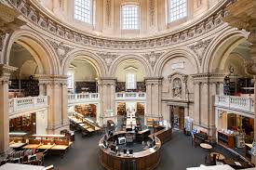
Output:
[[[93,0],[74,0],[74,19],[92,23]]]

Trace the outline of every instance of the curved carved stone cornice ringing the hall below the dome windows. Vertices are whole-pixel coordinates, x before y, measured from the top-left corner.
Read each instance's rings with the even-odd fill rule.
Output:
[[[25,19],[31,20],[41,29],[59,36],[68,41],[83,46],[91,46],[106,49],[150,49],[153,47],[164,47],[172,44],[181,43],[195,38],[203,33],[222,25],[226,7],[229,7],[232,0],[222,0],[218,7],[214,7],[209,15],[201,20],[195,20],[194,24],[188,25],[179,31],[166,33],[157,36],[151,36],[144,39],[124,39],[96,36],[89,33],[83,33],[75,30],[67,23],[61,22],[55,16],[50,15],[38,2],[33,0],[5,0],[12,7],[20,11]]]

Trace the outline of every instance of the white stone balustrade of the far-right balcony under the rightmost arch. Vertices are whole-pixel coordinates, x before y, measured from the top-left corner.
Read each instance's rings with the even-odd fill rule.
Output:
[[[253,98],[249,97],[215,96],[215,106],[254,114]]]

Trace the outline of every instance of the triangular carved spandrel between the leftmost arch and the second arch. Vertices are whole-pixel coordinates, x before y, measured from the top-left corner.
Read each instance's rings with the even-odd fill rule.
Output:
[[[58,43],[50,41],[50,40],[48,40],[48,42],[55,49],[55,51],[58,54],[58,58],[60,59],[61,63],[62,63],[62,60],[65,59],[67,53],[74,49],[74,48],[72,48],[70,46],[64,46],[63,43],[58,44]]]

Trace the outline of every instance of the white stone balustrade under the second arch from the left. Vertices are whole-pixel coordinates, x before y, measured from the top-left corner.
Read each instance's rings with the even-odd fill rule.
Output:
[[[83,104],[88,102],[99,102],[99,93],[68,94],[68,105]]]

